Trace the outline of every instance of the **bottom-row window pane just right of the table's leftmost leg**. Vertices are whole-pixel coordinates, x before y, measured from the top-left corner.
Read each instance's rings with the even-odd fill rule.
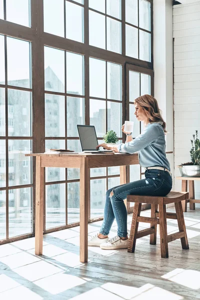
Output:
[[[46,229],[65,225],[65,183],[46,185]]]

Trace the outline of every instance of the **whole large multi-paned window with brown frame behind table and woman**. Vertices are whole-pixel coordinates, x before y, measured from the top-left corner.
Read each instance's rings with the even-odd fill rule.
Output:
[[[34,235],[35,165],[24,154],[81,151],[77,124],[124,141],[134,98],[153,93],[151,49],[152,0],[0,0],[1,242]],[[135,120],[133,135],[141,129]],[[119,183],[117,166],[90,170],[90,221]],[[79,169],[45,168],[44,196],[44,232],[77,224]]]

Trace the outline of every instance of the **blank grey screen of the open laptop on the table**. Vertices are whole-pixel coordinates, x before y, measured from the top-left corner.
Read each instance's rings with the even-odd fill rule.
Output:
[[[94,126],[77,125],[77,127],[78,127],[78,133],[79,133],[82,151],[96,150],[96,146],[98,145],[98,142],[97,142]]]

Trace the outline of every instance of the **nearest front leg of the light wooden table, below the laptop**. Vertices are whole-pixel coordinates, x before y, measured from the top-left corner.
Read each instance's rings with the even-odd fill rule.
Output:
[[[90,194],[88,158],[80,159],[80,262],[87,262],[88,199]]]

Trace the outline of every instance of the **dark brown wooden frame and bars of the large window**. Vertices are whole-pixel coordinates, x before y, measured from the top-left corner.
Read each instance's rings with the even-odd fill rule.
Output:
[[[57,49],[82,54],[84,56],[84,95],[82,97],[85,98],[85,116],[84,116],[84,123],[89,124],[89,57],[102,59],[108,62],[113,62],[117,64],[121,64],[121,72],[122,72],[122,122],[128,117],[127,112],[127,100],[126,100],[126,64],[129,63],[134,66],[135,71],[138,67],[145,69],[145,71],[153,72],[153,1],[146,0],[151,4],[150,10],[150,32],[151,32],[151,61],[144,61],[137,58],[133,58],[130,56],[125,55],[125,1],[121,1],[121,54],[112,52],[106,49],[98,48],[92,45],[89,45],[89,10],[88,7],[88,0],[84,0],[84,4],[80,4],[73,0],[67,0],[68,2],[74,3],[76,5],[80,5],[84,7],[84,36],[82,42],[77,42],[71,39],[67,39],[66,37],[56,36],[51,33],[47,33],[43,31],[43,1],[41,0],[31,0],[30,4],[30,27],[26,27],[23,25],[15,24],[9,21],[6,21],[6,7],[5,7],[5,0],[4,0],[4,20],[0,19],[0,34],[10,37],[15,37],[18,39],[26,40],[31,42],[31,62],[32,62],[32,76],[30,80],[32,82],[31,89],[27,88],[19,88],[16,86],[9,86],[7,82],[5,84],[0,84],[0,87],[6,87],[5,90],[5,103],[6,103],[6,111],[5,116],[7,118],[8,108],[7,108],[7,88],[14,88],[14,89],[22,89],[22,90],[31,90],[32,92],[32,135],[30,137],[16,137],[14,136],[13,139],[30,139],[32,141],[32,152],[34,153],[42,153],[45,151],[45,126],[44,126],[44,46],[54,47]],[[139,0],[137,0],[139,3]],[[63,0],[63,9],[65,8],[65,0]],[[106,7],[106,0],[105,0],[105,7]],[[139,7],[139,5],[138,5]],[[95,10],[93,10],[95,11]],[[106,10],[105,10],[106,11]],[[98,12],[100,13],[100,12]],[[101,13],[103,14],[103,13]],[[106,15],[106,14],[104,14]],[[65,16],[65,9],[64,9],[64,16]],[[110,18],[116,19],[115,17],[109,16]],[[139,25],[139,21],[138,21]],[[134,25],[133,25],[134,26]],[[135,26],[134,26],[135,27]],[[136,26],[137,27],[137,26]],[[138,27],[139,28],[139,27]],[[106,24],[105,24],[106,30]],[[139,30],[139,29],[138,29]],[[148,31],[143,29],[144,31]],[[66,36],[66,26],[64,21],[64,36]],[[106,41],[105,41],[106,43]],[[139,45],[139,42],[138,42]],[[6,67],[6,64],[5,64]],[[153,80],[151,81],[152,90],[151,94],[153,95]],[[54,93],[56,94],[56,93]],[[39,112],[39,113],[38,113]],[[106,113],[107,117],[107,113]],[[9,137],[11,138],[11,137]],[[102,137],[98,136],[98,139]],[[6,144],[6,153],[8,153],[8,131],[6,126],[6,134],[5,136],[0,136],[0,139],[5,140]],[[60,139],[60,137],[52,137],[52,139]],[[64,137],[64,139],[78,139],[78,137]],[[122,142],[125,141],[125,137],[122,137]],[[10,242],[13,240],[22,239],[25,237],[34,236],[34,218],[35,218],[35,160],[33,159],[33,173],[32,173],[32,182],[31,184],[24,184],[19,186],[8,186],[8,155],[6,155],[5,160],[6,165],[6,187],[0,187],[1,190],[5,190],[6,193],[6,238],[3,239],[1,243]],[[106,178],[106,184],[108,185],[108,179],[110,177],[118,177],[119,175],[108,175],[108,171],[106,169],[105,176],[96,176],[91,177],[91,179],[103,179]],[[66,186],[66,224],[63,226],[53,227],[49,229],[45,229],[45,217],[44,217],[44,233],[56,231],[61,228],[71,227],[72,225],[78,225],[79,222],[67,225],[67,183],[70,182],[77,182],[79,179],[74,180],[67,180],[67,176],[65,176],[65,180],[58,181],[58,182],[46,182],[45,184],[55,184],[55,183],[65,183]],[[8,190],[12,188],[24,188],[24,187],[31,187],[32,188],[32,203],[33,203],[33,231],[28,234],[23,234],[17,237],[9,238],[8,232]],[[44,188],[45,193],[45,188]],[[44,194],[45,197],[45,194]],[[90,208],[89,208],[90,209]],[[90,211],[90,210],[89,210]],[[44,216],[45,216],[45,203],[44,203]],[[102,219],[102,218],[98,218]],[[89,220],[92,222],[92,219]]]

